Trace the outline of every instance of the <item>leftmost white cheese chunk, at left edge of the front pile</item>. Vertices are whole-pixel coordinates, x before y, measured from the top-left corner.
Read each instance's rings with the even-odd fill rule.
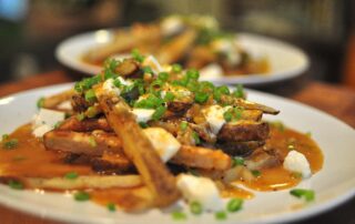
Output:
[[[65,113],[48,109],[40,109],[32,120],[32,134],[37,138],[43,136],[45,132],[54,129],[58,122],[65,119]]]

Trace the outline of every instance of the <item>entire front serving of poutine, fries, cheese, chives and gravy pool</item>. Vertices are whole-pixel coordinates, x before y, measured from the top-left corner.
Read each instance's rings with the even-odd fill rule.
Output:
[[[225,217],[253,191],[291,189],[322,169],[322,151],[307,134],[263,120],[277,110],[247,101],[240,85],[199,75],[138,51],[106,61],[97,77],[40,99],[32,122],[2,136],[0,181],[71,192],[110,211],[182,200],[193,214]],[[308,192],[291,193],[310,201]]]

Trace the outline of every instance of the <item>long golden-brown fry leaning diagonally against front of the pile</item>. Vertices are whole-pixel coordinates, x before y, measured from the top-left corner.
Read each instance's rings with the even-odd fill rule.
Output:
[[[94,90],[109,124],[122,141],[125,155],[133,161],[152,192],[154,204],[166,206],[175,202],[180,197],[175,177],[159,157],[124,100],[105,94],[101,85],[94,86]]]

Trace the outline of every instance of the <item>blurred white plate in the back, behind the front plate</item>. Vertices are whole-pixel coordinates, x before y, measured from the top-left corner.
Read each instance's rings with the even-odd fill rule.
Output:
[[[55,57],[62,64],[71,69],[88,74],[98,74],[101,68],[85,63],[81,58],[89,49],[108,43],[112,38],[110,30],[78,34],[61,42],[55,50]],[[271,72],[268,74],[203,78],[204,80],[225,84],[265,84],[295,78],[308,68],[307,55],[298,48],[283,41],[250,33],[239,33],[237,42],[252,55],[266,55],[270,59]]]

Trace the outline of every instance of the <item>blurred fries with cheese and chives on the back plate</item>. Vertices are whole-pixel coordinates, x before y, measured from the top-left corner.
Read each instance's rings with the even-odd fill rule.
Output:
[[[161,64],[199,69],[202,77],[266,74],[271,69],[265,55],[242,47],[237,35],[222,31],[211,17],[170,16],[113,32],[110,42],[89,49],[83,61],[102,65],[108,58],[126,58],[139,49]]]

